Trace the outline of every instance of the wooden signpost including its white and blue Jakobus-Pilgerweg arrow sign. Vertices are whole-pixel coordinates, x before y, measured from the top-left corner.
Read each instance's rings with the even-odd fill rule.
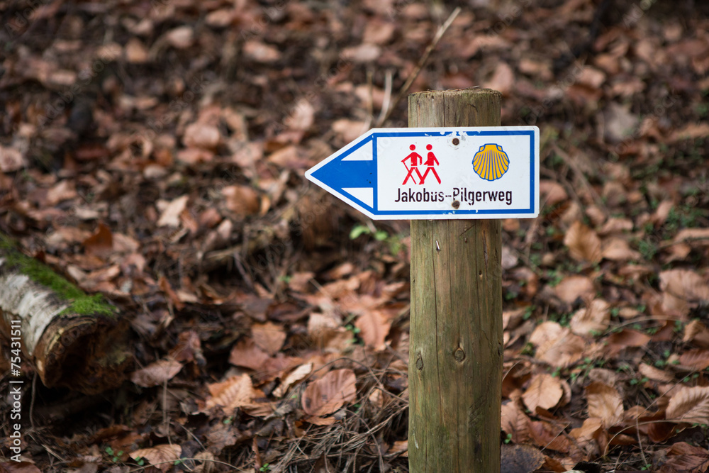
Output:
[[[500,111],[490,89],[411,94],[411,128],[369,130],[306,172],[371,218],[411,220],[413,473],[500,471],[499,219],[539,214],[539,129]]]

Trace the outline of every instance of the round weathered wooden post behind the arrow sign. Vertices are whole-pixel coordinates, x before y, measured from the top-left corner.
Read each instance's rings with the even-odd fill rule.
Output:
[[[500,110],[491,89],[420,92],[408,126],[500,126]],[[500,471],[501,245],[499,220],[411,221],[412,473]]]

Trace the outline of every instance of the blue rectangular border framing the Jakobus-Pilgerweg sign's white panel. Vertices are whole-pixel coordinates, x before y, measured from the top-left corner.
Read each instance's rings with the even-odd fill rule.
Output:
[[[423,136],[449,136],[453,135],[454,133],[458,133],[457,131],[443,131],[443,132],[420,132],[420,131],[400,131],[400,132],[393,132],[393,133],[372,133],[372,145],[374,147],[373,152],[372,152],[372,157],[374,160],[374,167],[376,168],[377,166],[377,151],[376,151],[376,139],[379,137],[385,138],[385,137],[392,137],[392,138],[401,138],[401,137],[423,137]],[[535,139],[534,139],[534,130],[497,130],[497,131],[466,131],[464,132],[468,136],[504,136],[504,135],[524,135],[524,136],[529,136],[530,137],[530,206],[529,208],[506,208],[506,209],[500,209],[500,210],[394,210],[394,211],[380,211],[378,210],[378,204],[379,204],[379,172],[376,172],[376,179],[374,180],[374,208],[369,207],[367,204],[364,204],[364,202],[360,201],[356,197],[347,194],[350,196],[350,199],[353,199],[357,202],[359,202],[360,205],[364,206],[364,208],[372,208],[372,213],[376,216],[397,216],[397,215],[497,215],[497,214],[506,214],[506,213],[531,213],[532,215],[535,213]],[[354,147],[354,148],[359,148],[359,146]],[[350,154],[352,150],[347,150],[346,155],[347,156]],[[342,156],[342,157],[344,157]]]

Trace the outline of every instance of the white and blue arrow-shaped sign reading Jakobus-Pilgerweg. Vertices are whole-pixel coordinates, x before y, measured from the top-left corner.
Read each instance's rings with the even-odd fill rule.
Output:
[[[539,128],[374,128],[306,177],[376,220],[534,218]]]

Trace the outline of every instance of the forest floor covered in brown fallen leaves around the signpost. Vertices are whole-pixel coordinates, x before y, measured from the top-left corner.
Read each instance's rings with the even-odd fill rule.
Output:
[[[408,222],[303,173],[406,126],[452,9],[0,1],[0,231],[104,294],[135,359],[94,396],[24,364],[0,471],[408,471]],[[471,1],[408,90],[540,128],[540,216],[503,221],[505,472],[709,467],[708,13]]]

